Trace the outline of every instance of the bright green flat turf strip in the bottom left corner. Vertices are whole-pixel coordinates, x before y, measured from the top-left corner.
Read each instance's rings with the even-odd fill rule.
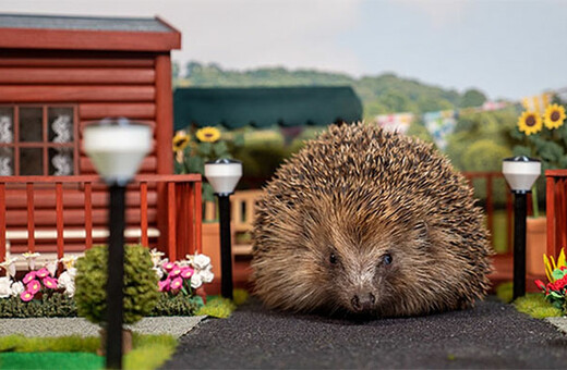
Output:
[[[105,358],[88,353],[3,353],[0,369],[101,369]]]

